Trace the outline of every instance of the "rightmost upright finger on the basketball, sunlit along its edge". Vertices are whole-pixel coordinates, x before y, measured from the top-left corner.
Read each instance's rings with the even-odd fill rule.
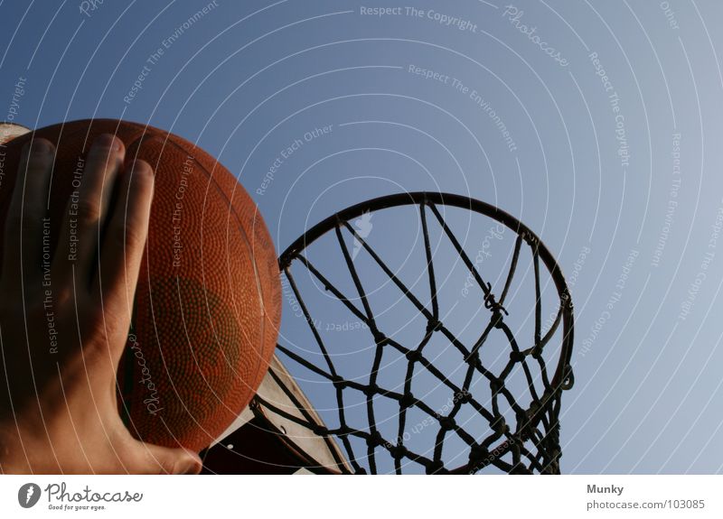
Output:
[[[109,215],[100,246],[100,268],[93,279],[91,293],[100,299],[107,315],[130,322],[133,299],[138,283],[143,252],[146,247],[148,221],[153,200],[154,173],[145,161],[136,161],[121,175],[118,199]],[[125,329],[127,326],[117,327]],[[124,331],[124,333],[125,333]],[[121,348],[114,352],[120,358],[125,347],[120,341],[110,340]]]

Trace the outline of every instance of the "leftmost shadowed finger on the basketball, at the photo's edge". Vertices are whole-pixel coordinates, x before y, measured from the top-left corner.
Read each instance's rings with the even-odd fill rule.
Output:
[[[41,269],[43,226],[48,228],[50,236],[50,223],[44,218],[54,152],[52,143],[45,139],[34,139],[23,147],[13,198],[5,219],[4,282],[19,281],[23,268],[26,276]],[[48,261],[50,255],[48,250]],[[28,269],[33,272],[28,273]]]

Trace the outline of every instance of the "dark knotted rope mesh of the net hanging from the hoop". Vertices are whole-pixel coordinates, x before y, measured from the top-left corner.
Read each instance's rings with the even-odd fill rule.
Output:
[[[362,211],[386,209],[390,205],[414,205],[418,209],[419,224],[424,240],[424,254],[426,256],[426,277],[428,284],[428,301],[420,298],[409,289],[407,284],[399,279],[390,266],[384,262],[380,253],[367,243],[363,233],[350,224]],[[502,290],[493,292],[492,283],[484,279],[478,265],[475,264],[460,244],[438,206],[455,204],[463,209],[474,210],[485,216],[497,219],[506,227],[514,231],[514,248],[508,264],[506,275],[503,274]],[[453,246],[465,269],[474,279],[483,295],[486,313],[484,330],[476,340],[467,342],[453,333],[445,320],[440,318],[440,301],[437,291],[437,270],[444,270],[446,265],[436,265],[430,244],[429,227],[434,221],[441,228],[443,235]],[[348,269],[352,279],[354,294],[343,293],[335,283],[320,272],[315,264],[305,255],[305,247],[316,238],[327,233],[333,233],[335,241],[343,255],[343,267]],[[385,334],[372,311],[369,293],[362,283],[362,276],[352,259],[352,251],[344,239],[344,234],[351,237],[353,243],[362,247],[380,270],[394,283],[399,292],[414,305],[416,311],[426,322],[426,329],[420,341],[416,344],[403,344],[394,338],[393,334]],[[302,239],[303,238],[303,239]],[[280,264],[283,275],[290,290],[293,291],[299,309],[314,337],[314,356],[305,355],[298,348],[288,348],[279,345],[277,354],[284,359],[285,364],[295,364],[325,381],[328,391],[335,395],[334,420],[336,424],[326,426],[314,419],[309,410],[298,402],[290,391],[287,396],[294,402],[300,413],[289,413],[275,406],[273,402],[263,401],[256,397],[254,405],[260,404],[271,412],[277,412],[287,420],[304,425],[315,435],[323,437],[325,441],[341,447],[348,463],[337,459],[337,466],[333,469],[341,472],[357,474],[394,472],[426,472],[427,474],[486,472],[490,469],[510,474],[558,474],[559,458],[559,412],[562,390],[569,389],[573,384],[572,370],[569,366],[569,357],[572,347],[572,303],[564,278],[559,271],[554,258],[540,243],[530,229],[523,226],[518,220],[507,213],[474,199],[465,199],[452,195],[418,193],[407,195],[405,199],[386,197],[372,200],[368,204],[355,206],[343,211],[333,218],[327,218],[322,224],[315,227],[313,232],[302,236],[296,246],[289,247],[282,255]],[[301,244],[301,245],[299,245]],[[505,303],[508,300],[512,281],[518,271],[521,252],[529,247],[531,267],[534,277],[535,308],[534,308],[534,338],[531,345],[521,345],[515,338],[511,326],[508,325],[508,310]],[[527,257],[527,256],[526,256]],[[314,325],[315,316],[312,315],[305,297],[300,290],[296,278],[292,273],[292,265],[298,264],[305,269],[316,282],[324,286],[334,298],[341,301],[343,306],[360,320],[370,333],[371,348],[368,349],[373,357],[371,371],[368,377],[360,380],[358,377],[342,375],[337,369],[337,362],[330,353],[327,344],[319,329]],[[542,322],[542,296],[540,289],[540,266],[547,268],[556,287],[559,297],[559,307],[549,329],[543,331]],[[444,314],[443,314],[444,315]],[[505,338],[509,358],[506,359],[501,370],[493,370],[485,366],[481,352],[484,351],[491,335],[501,334]],[[430,343],[439,338],[459,352],[462,359],[462,372],[464,376],[449,376],[427,355]],[[553,340],[554,339],[554,340]],[[550,342],[559,346],[557,366],[550,369],[549,360],[543,355]],[[388,387],[380,381],[382,359],[390,355],[391,350],[396,357],[402,356],[406,363],[403,383]],[[308,353],[308,351],[306,351]],[[437,360],[437,359],[435,359]],[[289,362],[290,361],[290,362]],[[459,366],[457,366],[459,367]],[[453,395],[449,405],[443,412],[427,403],[424,396],[418,397],[413,392],[414,381],[419,374],[434,377],[439,385],[451,391]],[[521,394],[519,387],[514,390],[510,383],[512,373],[519,372],[523,376],[523,385],[526,391]],[[271,376],[276,376],[273,371]],[[475,379],[482,377],[484,386],[473,384]],[[475,378],[476,377],[476,378]],[[461,383],[460,383],[461,379]],[[481,390],[484,387],[484,391]],[[418,388],[417,388],[418,389]],[[352,395],[352,393],[355,393]],[[517,393],[517,395],[515,394]],[[357,420],[352,420],[349,410],[351,401],[360,402],[364,409],[362,426]],[[391,404],[395,410],[393,420],[396,423],[396,436],[390,434],[389,422],[384,419],[385,427],[380,427],[377,412],[380,404],[389,408]],[[354,408],[354,418],[360,412],[357,405]],[[415,416],[421,412],[427,417],[426,433],[433,437],[432,446],[428,449],[418,449],[412,445],[408,432],[410,415]],[[300,414],[304,418],[299,418]],[[485,427],[471,425],[467,418],[473,414],[481,417]],[[464,417],[464,418],[463,418]],[[475,422],[479,423],[479,422]],[[386,432],[382,432],[382,429]],[[455,450],[450,455],[446,445],[455,441]],[[459,446],[462,447],[459,447]],[[464,453],[460,450],[464,449]],[[333,449],[334,456],[338,458],[337,449]],[[383,458],[383,461],[382,461]],[[330,468],[320,468],[328,470]]]

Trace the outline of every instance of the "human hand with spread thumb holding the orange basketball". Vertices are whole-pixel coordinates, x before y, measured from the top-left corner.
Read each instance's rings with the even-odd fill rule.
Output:
[[[85,163],[77,257],[65,221],[45,218],[54,147],[23,150],[5,220],[0,273],[0,470],[4,473],[187,474],[198,455],[134,439],[117,409],[146,244],[153,170],[123,167],[125,148],[102,135]],[[74,208],[73,208],[74,209]],[[50,248],[50,229],[61,236]]]

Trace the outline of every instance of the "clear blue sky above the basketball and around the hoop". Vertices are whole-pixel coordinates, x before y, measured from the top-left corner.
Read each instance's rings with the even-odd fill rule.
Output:
[[[5,1],[0,118],[197,142],[278,250],[394,192],[496,204],[576,303],[563,471],[723,471],[723,4],[410,4]]]

